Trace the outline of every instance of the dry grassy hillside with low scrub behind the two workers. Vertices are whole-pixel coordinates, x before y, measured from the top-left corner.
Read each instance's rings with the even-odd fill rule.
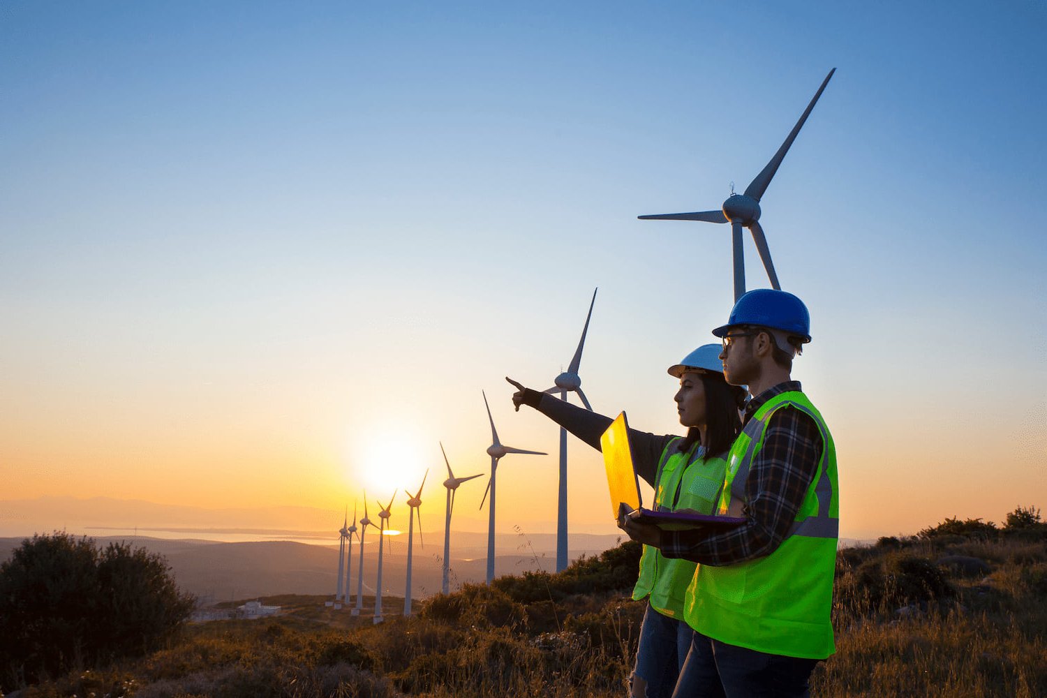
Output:
[[[1047,695],[1047,526],[946,520],[843,549],[838,652],[819,696]],[[621,696],[644,605],[626,543],[560,575],[524,572],[386,620],[267,596],[284,613],[192,625],[165,650],[31,686],[20,698]]]

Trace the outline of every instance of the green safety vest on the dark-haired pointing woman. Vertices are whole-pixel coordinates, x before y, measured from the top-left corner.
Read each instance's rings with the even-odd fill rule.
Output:
[[[669,442],[659,459],[654,480],[655,511],[691,510],[712,514],[716,508],[727,460],[703,460],[700,446],[681,452],[681,437]],[[688,560],[669,560],[656,547],[644,545],[640,579],[632,589],[634,600],[650,596],[651,607],[673,618],[684,617],[684,598],[697,565]]]

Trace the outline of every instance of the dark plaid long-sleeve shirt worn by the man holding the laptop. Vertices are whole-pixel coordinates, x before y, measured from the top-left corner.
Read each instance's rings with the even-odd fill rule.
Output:
[[[745,407],[743,423],[771,398],[800,389],[798,381],[788,381],[764,390]],[[714,566],[771,555],[793,525],[818,472],[823,449],[822,434],[807,413],[777,410],[745,479],[748,503],[742,513],[749,522],[712,536],[703,530],[663,531],[662,554]]]

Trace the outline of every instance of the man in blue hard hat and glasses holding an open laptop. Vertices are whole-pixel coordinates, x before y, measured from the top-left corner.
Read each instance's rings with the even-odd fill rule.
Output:
[[[753,395],[718,506],[745,522],[719,533],[622,522],[665,557],[699,563],[685,600],[694,641],[674,696],[807,696],[811,670],[834,652],[836,448],[790,377],[809,328],[799,298],[760,289],[713,330],[728,383]]]

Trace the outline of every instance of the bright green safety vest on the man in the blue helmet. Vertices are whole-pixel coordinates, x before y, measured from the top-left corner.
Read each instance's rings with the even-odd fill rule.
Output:
[[[687,590],[685,617],[704,635],[767,654],[824,659],[836,652],[832,578],[840,532],[837,451],[822,415],[798,390],[756,410],[728,455],[718,513],[741,516],[745,479],[779,409],[809,414],[822,435],[818,471],[793,527],[774,553],[733,565],[701,565]]]

